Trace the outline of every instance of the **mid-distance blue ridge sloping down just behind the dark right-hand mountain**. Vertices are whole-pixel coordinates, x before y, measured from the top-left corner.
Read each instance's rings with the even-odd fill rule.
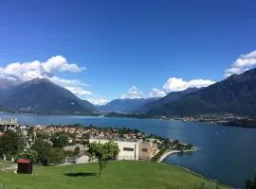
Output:
[[[166,96],[159,98],[158,100],[155,100],[154,102],[146,103],[143,107],[139,109],[140,112],[159,112],[162,109],[162,106],[164,104],[173,102],[182,96],[186,94],[190,94],[192,92],[198,91],[197,88],[189,88],[187,90],[181,91],[181,92],[173,92],[170,94],[167,94]]]

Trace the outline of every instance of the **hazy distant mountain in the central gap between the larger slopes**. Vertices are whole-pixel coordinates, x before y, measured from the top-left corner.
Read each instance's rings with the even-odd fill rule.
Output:
[[[106,105],[98,107],[101,112],[127,112],[127,113],[137,113],[140,112],[140,108],[145,104],[154,102],[159,98],[125,98],[125,99],[115,99]]]

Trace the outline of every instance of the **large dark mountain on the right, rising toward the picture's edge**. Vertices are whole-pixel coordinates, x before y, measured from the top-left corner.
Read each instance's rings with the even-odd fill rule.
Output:
[[[256,69],[233,75],[148,111],[151,114],[173,115],[217,112],[255,115]]]

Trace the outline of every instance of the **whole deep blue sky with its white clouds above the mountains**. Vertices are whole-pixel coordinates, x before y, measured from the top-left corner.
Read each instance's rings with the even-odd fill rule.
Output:
[[[0,78],[82,99],[160,97],[256,66],[256,1],[3,0]]]

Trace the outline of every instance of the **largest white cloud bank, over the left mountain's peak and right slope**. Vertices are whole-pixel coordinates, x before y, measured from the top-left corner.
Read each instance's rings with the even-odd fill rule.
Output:
[[[91,92],[84,90],[88,85],[77,79],[65,79],[57,77],[58,72],[82,72],[84,67],[67,60],[59,55],[52,57],[45,62],[34,60],[31,62],[14,62],[6,67],[0,67],[0,77],[18,81],[27,81],[33,78],[48,78],[57,85],[64,87],[82,99],[85,99]]]

